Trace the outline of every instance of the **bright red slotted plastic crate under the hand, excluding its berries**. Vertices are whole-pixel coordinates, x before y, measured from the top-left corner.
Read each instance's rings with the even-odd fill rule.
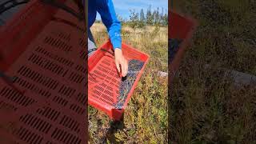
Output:
[[[102,49],[108,52],[102,51]],[[91,106],[104,111],[110,118],[114,118],[115,120],[120,120],[120,118],[122,118],[127,103],[129,102],[130,97],[138,84],[138,80],[142,76],[146,63],[149,60],[147,54],[135,50],[124,43],[122,43],[122,52],[128,60],[136,59],[144,62],[144,66],[142,66],[142,70],[139,71],[122,109],[116,109],[114,107],[119,96],[119,85],[122,78],[118,75],[114,56],[110,54],[114,53],[110,41],[99,47],[88,60],[88,102]]]

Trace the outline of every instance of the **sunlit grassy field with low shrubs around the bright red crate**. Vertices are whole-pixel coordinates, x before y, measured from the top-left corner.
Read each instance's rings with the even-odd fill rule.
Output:
[[[91,27],[97,46],[108,39],[101,23]],[[89,106],[90,143],[166,143],[167,141],[167,28],[122,26],[122,40],[150,55],[150,62],[138,82],[125,111],[123,122],[113,122]]]

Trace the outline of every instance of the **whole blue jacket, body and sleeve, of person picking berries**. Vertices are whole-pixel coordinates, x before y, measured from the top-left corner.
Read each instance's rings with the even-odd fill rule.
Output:
[[[90,29],[90,26],[94,24],[98,12],[101,15],[102,22],[106,26],[114,49],[121,49],[121,22],[118,21],[115,14],[112,0],[89,0],[88,5],[88,28]]]

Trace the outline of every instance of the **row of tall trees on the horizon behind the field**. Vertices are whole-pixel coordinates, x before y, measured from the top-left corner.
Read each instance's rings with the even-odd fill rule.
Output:
[[[168,26],[168,13],[163,8],[161,10],[159,8],[157,10],[151,10],[150,6],[146,10],[146,13],[144,13],[143,9],[140,12],[130,10],[130,20],[124,21],[122,18],[120,20],[134,28],[143,26]]]

